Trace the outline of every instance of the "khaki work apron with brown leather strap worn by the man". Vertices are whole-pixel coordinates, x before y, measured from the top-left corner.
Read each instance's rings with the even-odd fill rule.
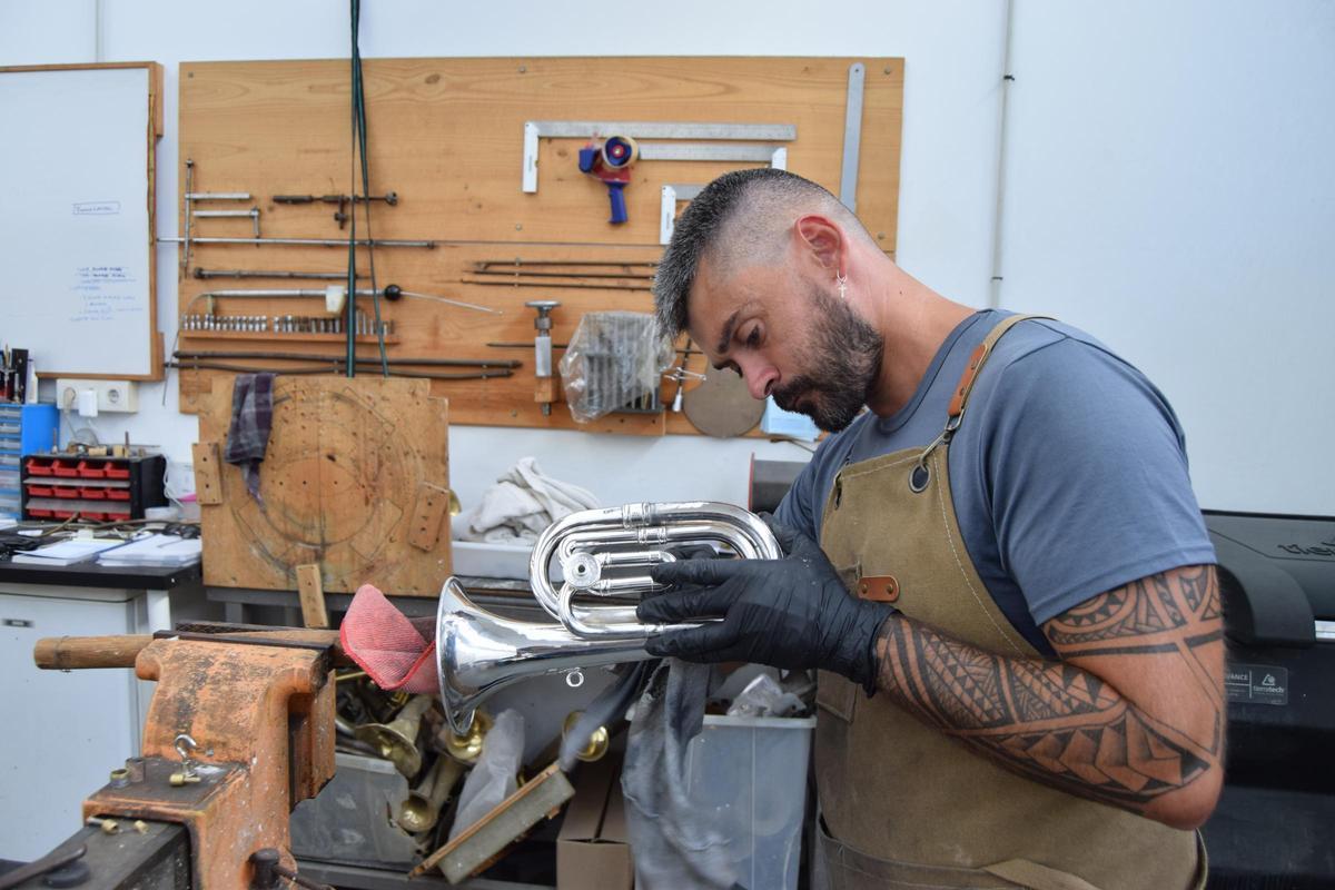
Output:
[[[892,602],[980,648],[1039,652],[979,578],[951,499],[947,452],[973,380],[1015,323],[969,358],[934,447],[849,464],[825,504],[821,548],[854,595]],[[918,488],[918,490],[914,490]],[[1204,886],[1191,831],[1021,778],[890,701],[820,673],[814,886],[830,890],[1029,887],[1187,890]]]

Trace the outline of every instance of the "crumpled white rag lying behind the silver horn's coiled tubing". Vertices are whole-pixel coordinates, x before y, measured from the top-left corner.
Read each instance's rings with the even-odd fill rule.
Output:
[[[593,492],[543,474],[537,458],[521,458],[455,526],[455,538],[493,544],[533,543],[555,520],[597,506]]]

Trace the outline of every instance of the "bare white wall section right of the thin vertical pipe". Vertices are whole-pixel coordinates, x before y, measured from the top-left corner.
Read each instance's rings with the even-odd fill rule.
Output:
[[[1335,514],[1335,4],[1019,0],[1003,302],[1187,430],[1206,507]]]

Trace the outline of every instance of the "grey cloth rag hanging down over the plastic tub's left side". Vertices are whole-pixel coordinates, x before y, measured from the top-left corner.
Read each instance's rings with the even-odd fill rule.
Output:
[[[635,890],[736,886],[729,839],[686,794],[686,746],[704,727],[709,673],[668,659],[635,705],[621,770]]]

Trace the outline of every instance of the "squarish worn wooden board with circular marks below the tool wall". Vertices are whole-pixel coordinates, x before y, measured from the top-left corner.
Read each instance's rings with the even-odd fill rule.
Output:
[[[216,380],[199,418],[206,444],[226,440],[231,396],[231,380]],[[296,590],[298,568],[318,564],[324,592],[370,583],[438,595],[450,575],[450,514],[426,511],[438,523],[426,538],[414,519],[423,499],[445,491],[449,503],[447,428],[446,402],[425,380],[278,378],[263,503],[223,463],[220,503],[202,506],[204,583]]]

